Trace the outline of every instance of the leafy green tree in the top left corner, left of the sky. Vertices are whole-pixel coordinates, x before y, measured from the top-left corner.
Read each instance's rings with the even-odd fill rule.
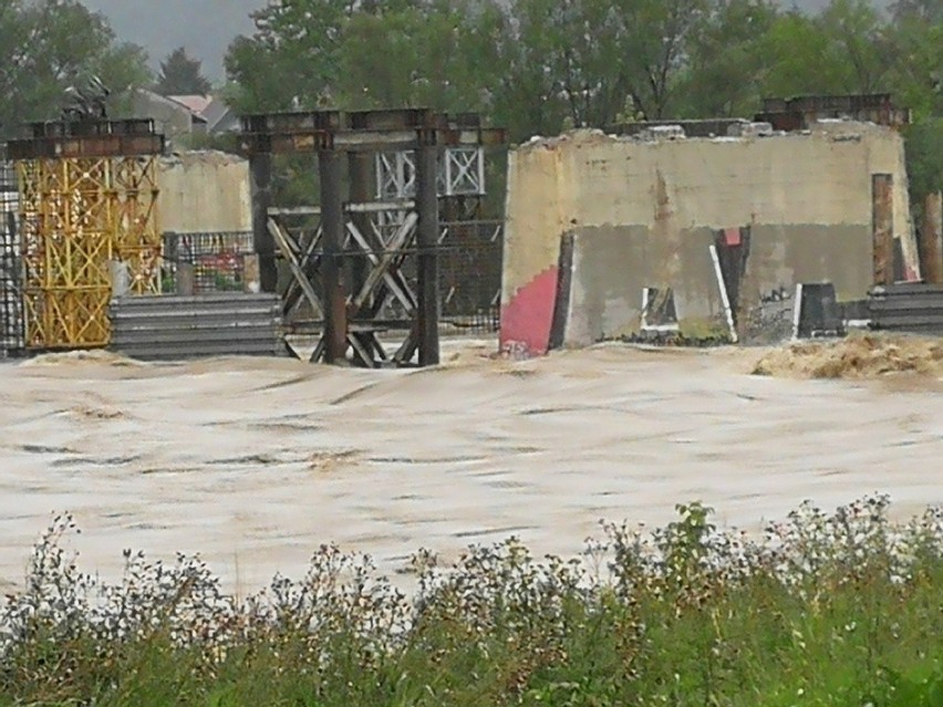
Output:
[[[132,86],[147,83],[139,46],[116,40],[105,19],[77,0],[7,0],[0,7],[0,129],[58,117],[70,85],[97,75],[125,107]]]

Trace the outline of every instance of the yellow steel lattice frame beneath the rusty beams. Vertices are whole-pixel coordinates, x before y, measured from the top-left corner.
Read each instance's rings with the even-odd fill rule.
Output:
[[[156,157],[37,159],[17,169],[27,347],[106,345],[108,262],[128,263],[136,293],[158,287]]]

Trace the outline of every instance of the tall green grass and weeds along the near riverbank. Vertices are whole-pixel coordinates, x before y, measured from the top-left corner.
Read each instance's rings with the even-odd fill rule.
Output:
[[[421,551],[408,596],[322,547],[238,601],[184,555],[94,580],[61,517],[0,606],[0,704],[943,706],[943,510],[807,503],[761,538],[711,517],[604,524],[573,561]]]

